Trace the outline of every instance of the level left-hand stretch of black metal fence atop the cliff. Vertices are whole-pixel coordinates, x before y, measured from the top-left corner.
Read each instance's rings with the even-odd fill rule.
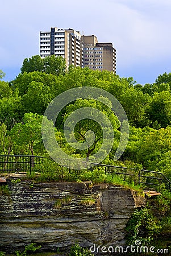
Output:
[[[0,155],[0,172],[28,172],[39,166],[44,161],[43,156],[33,155]]]

